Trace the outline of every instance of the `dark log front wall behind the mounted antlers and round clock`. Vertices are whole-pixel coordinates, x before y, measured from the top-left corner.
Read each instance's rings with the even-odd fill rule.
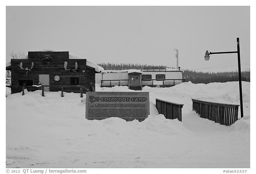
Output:
[[[44,55],[50,55],[51,58],[45,58]],[[20,62],[23,68],[31,68],[32,62],[34,67],[31,70],[21,70]],[[64,69],[64,62],[68,62],[67,69]],[[75,70],[75,63],[78,69]],[[39,74],[49,74],[50,91],[61,91],[61,85],[71,85],[71,77],[79,78],[79,85],[83,85],[90,90],[90,83],[95,87],[95,69],[86,66],[86,59],[69,59],[68,51],[62,52],[28,52],[28,59],[12,59],[12,93],[22,91],[19,80],[33,80],[33,85],[38,85]],[[84,72],[83,72],[84,71]],[[54,77],[58,75],[60,81],[55,81]],[[36,87],[28,87],[28,91],[37,90]],[[76,86],[64,89],[65,92],[80,93],[80,89]],[[84,90],[84,93],[86,90]]]

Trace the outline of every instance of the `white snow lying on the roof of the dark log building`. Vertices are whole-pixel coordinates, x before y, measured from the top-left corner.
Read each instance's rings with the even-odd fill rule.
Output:
[[[57,52],[56,50],[40,50],[41,52]],[[21,56],[19,57],[20,59],[24,58],[28,58],[28,54],[27,55],[24,55],[24,56]],[[82,59],[82,57],[80,56],[77,56],[75,54],[70,54],[69,53],[69,58],[70,59]],[[6,67],[8,66],[11,66],[11,61],[7,62],[6,63]],[[95,68],[95,71],[96,72],[101,72],[101,71],[104,71],[104,68],[102,68],[101,66],[98,66],[96,63],[86,59],[86,66],[89,66],[89,67],[92,67],[92,68]]]

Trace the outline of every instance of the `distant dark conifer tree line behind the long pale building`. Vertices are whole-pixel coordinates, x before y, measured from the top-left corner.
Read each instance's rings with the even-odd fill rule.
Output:
[[[104,70],[130,70],[130,69],[159,69],[166,68],[166,66],[154,66],[154,65],[141,65],[141,64],[115,64],[115,63],[100,63],[99,66]],[[219,73],[204,73],[196,72],[192,70],[184,70],[183,77],[185,81],[191,81],[192,83],[211,83],[211,82],[227,82],[238,81],[238,72],[219,72]],[[250,71],[241,72],[242,81],[250,81]]]

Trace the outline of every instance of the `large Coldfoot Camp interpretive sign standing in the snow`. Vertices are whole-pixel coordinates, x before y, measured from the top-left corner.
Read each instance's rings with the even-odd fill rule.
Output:
[[[86,92],[85,118],[119,117],[145,120],[149,115],[148,92]]]

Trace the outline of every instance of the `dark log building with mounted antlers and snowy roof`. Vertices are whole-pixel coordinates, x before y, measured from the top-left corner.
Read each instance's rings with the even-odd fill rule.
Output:
[[[68,51],[29,51],[23,58],[11,59],[6,70],[11,70],[12,93],[22,91],[25,85],[28,91],[61,91],[79,93],[80,88],[92,91],[95,88],[95,73],[102,67],[69,54]]]

